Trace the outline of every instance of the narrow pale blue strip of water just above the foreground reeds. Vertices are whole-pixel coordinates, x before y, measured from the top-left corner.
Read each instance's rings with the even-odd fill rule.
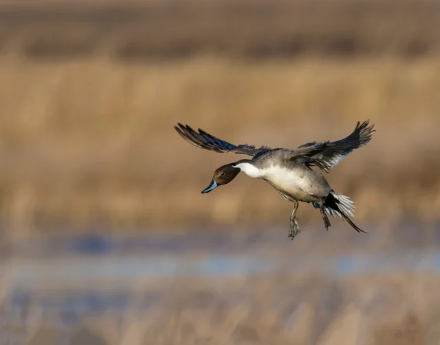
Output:
[[[384,252],[375,255],[318,255],[286,258],[260,254],[145,254],[17,259],[13,267],[0,266],[1,276],[18,285],[39,285],[42,279],[75,284],[84,281],[135,282],[145,278],[227,277],[264,275],[283,271],[295,274],[307,270],[310,274],[385,274],[395,270],[417,270],[440,274],[440,252]],[[307,263],[307,269],[303,266]]]

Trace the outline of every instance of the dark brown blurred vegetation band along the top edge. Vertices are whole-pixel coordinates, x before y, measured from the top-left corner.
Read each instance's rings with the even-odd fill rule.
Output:
[[[4,2],[5,0],[3,0]],[[130,4],[131,3],[131,4]],[[0,47],[30,58],[248,59],[440,52],[437,1],[77,1],[3,5]]]

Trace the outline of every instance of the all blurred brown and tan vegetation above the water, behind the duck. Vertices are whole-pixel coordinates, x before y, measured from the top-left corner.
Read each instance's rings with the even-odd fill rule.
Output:
[[[0,214],[12,233],[287,222],[292,205],[244,176],[200,195],[241,156],[188,145],[177,121],[296,147],[371,119],[377,134],[331,171],[333,188],[361,227],[438,219],[437,2],[23,3],[0,11]]]

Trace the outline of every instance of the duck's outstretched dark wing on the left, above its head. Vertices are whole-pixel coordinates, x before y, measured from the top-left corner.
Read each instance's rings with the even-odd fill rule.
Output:
[[[177,133],[180,134],[182,138],[184,138],[188,143],[192,143],[197,147],[201,147],[202,149],[214,151],[214,152],[234,152],[236,154],[248,154],[249,156],[256,156],[257,154],[261,154],[263,152],[267,152],[270,150],[269,147],[255,147],[252,145],[234,145],[228,143],[227,141],[223,141],[221,139],[212,136],[201,130],[199,128],[199,132],[196,132],[188,125],[182,125],[181,123],[177,123],[177,126],[174,126],[174,129]]]

